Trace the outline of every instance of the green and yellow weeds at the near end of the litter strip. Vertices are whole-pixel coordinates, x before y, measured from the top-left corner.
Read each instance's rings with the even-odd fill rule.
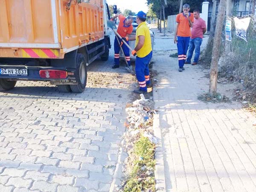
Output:
[[[136,160],[124,192],[141,192],[144,190],[155,192],[154,152],[155,145],[147,137],[141,136],[137,140],[134,146]]]

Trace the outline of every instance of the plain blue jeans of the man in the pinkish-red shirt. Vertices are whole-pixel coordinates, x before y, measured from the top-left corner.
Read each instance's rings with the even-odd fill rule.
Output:
[[[187,63],[191,63],[191,58],[195,49],[195,57],[194,62],[198,62],[199,55],[200,55],[200,46],[202,44],[203,39],[201,38],[194,38],[190,39],[189,41],[189,52],[188,52],[188,58],[186,60]]]

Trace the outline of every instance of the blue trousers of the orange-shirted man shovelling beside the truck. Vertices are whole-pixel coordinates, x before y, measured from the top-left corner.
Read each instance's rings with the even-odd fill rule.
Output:
[[[120,38],[118,38],[118,39],[119,39],[119,42],[121,44],[122,40]],[[129,44],[129,41],[125,41],[125,42],[127,44]],[[125,44],[122,44],[122,49],[123,49],[123,51],[125,53],[124,56],[126,58],[126,61],[127,61],[128,65],[130,66],[131,65],[130,64],[130,49]],[[118,41],[117,41],[116,38],[115,38],[115,41],[114,41],[114,51],[115,51],[115,55],[114,55],[114,57],[115,57],[115,59],[114,59],[115,65],[119,66],[119,64],[120,64],[120,61],[119,61],[120,46],[119,46]]]

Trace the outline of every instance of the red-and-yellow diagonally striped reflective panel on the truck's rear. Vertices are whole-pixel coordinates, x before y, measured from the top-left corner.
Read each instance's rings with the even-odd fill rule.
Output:
[[[23,58],[59,58],[58,49],[22,49]]]

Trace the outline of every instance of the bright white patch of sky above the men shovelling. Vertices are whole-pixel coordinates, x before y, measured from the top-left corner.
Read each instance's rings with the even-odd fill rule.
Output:
[[[107,0],[107,3],[108,5],[116,5],[121,11],[130,9],[135,13],[139,11],[148,12],[147,0]]]

